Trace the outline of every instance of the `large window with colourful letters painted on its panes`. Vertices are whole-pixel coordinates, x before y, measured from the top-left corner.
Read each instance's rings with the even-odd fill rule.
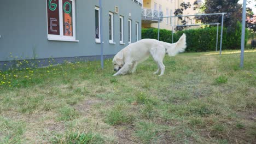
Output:
[[[48,39],[61,41],[75,40],[74,0],[46,0]]]

